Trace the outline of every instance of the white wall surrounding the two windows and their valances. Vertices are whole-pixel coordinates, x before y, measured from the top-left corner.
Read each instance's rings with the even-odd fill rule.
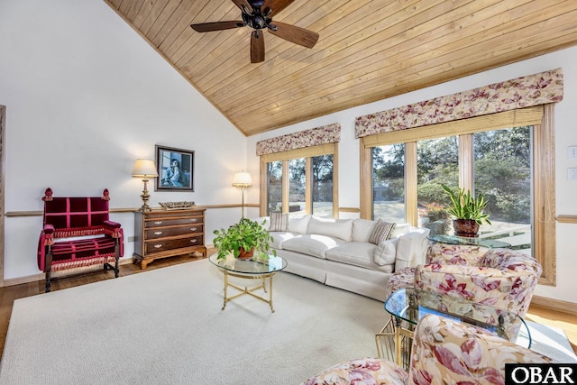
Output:
[[[300,124],[293,124],[273,133],[252,136],[248,140],[249,169],[253,175],[258,175],[259,159],[255,155],[256,142],[325,124],[340,123],[342,139],[339,145],[339,159],[341,160],[339,162],[339,206],[360,207],[359,140],[354,138],[354,118],[356,116],[557,68],[563,69],[564,97],[562,102],[555,105],[554,115],[556,215],[577,215],[577,200],[575,199],[577,182],[567,180],[567,168],[577,167],[577,160],[569,160],[567,156],[567,146],[577,145],[574,114],[577,105],[577,47],[446,82],[435,87],[391,97],[369,105],[351,108],[336,114],[325,115]],[[345,217],[345,215],[350,216],[348,213],[343,213],[341,216]],[[557,286],[555,288],[539,286],[536,289],[536,295],[577,303],[577,280],[574,279],[577,273],[577,264],[575,263],[577,246],[574,242],[576,232],[577,225],[557,224]]]

